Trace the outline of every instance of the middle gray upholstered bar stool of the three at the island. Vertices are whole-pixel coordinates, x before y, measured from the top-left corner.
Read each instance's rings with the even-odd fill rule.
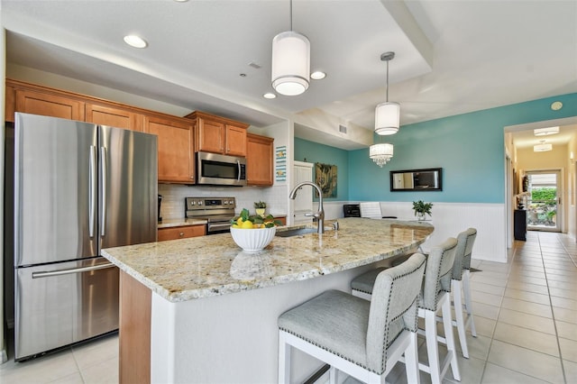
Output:
[[[426,353],[429,361],[429,365],[419,362],[418,368],[431,375],[433,384],[439,384],[443,380],[449,367],[453,371],[453,378],[461,380],[454,345],[450,295],[456,248],[457,240],[453,237],[431,248],[426,260],[425,279],[418,297],[418,316],[425,319]],[[375,273],[375,270],[370,270],[353,279],[351,288],[354,296],[372,299],[372,282],[374,281],[372,277]],[[436,332],[435,314],[439,309],[442,311],[445,337],[437,335]],[[447,346],[447,355],[443,363],[439,361],[437,339]]]

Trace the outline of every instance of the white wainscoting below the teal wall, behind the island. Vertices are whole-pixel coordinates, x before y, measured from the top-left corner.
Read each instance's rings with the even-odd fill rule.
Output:
[[[358,202],[338,202],[325,204],[331,215],[327,219],[343,217],[343,204]],[[423,244],[424,251],[444,242],[448,237],[456,237],[469,227],[477,229],[477,240],[473,247],[473,259],[507,262],[507,233],[504,204],[481,203],[435,203],[433,202],[431,224],[435,232]],[[340,207],[337,207],[340,205]],[[340,211],[338,211],[340,209]],[[397,216],[400,220],[416,220],[412,202],[380,202],[382,215]],[[338,212],[337,212],[338,211]],[[427,218],[429,218],[427,216]]]

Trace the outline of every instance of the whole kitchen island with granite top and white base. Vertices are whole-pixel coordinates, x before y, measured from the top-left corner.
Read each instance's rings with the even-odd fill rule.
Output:
[[[354,277],[433,233],[418,222],[339,224],[275,237],[258,253],[243,252],[229,233],[103,251],[122,271],[121,382],[274,382],[280,314],[326,289],[349,291]],[[296,352],[293,377],[321,365]]]

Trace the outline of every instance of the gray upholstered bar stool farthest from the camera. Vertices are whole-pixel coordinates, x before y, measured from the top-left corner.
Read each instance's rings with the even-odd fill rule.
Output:
[[[467,325],[471,326],[471,334],[477,337],[475,330],[475,321],[472,316],[471,303],[471,254],[472,246],[477,238],[477,230],[469,228],[457,236],[457,250],[454,255],[453,263],[453,279],[451,280],[453,287],[453,307],[454,317],[453,325],[457,327],[459,334],[459,341],[461,343],[461,351],[463,357],[469,358],[469,348],[467,347],[467,339],[465,329]],[[464,303],[463,303],[464,294]],[[463,317],[463,308],[467,313],[467,318]]]

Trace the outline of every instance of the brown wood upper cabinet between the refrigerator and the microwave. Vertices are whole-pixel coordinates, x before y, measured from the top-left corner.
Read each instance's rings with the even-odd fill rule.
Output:
[[[195,182],[192,123],[179,117],[144,116],[144,132],[158,136],[159,181]]]

